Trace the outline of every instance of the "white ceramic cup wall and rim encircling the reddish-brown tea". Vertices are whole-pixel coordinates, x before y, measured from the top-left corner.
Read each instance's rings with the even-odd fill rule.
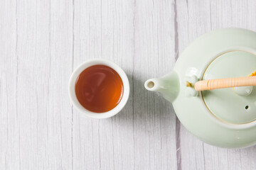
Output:
[[[82,105],[78,101],[78,98],[75,95],[75,82],[78,79],[78,76],[80,75],[80,73],[83,70],[85,70],[87,67],[97,65],[97,64],[102,64],[114,69],[121,77],[122,83],[124,86],[124,93],[119,104],[115,108],[113,108],[111,111],[107,111],[105,113],[94,113],[94,112],[88,111],[86,108],[82,107]],[[87,117],[97,118],[97,119],[110,118],[113,115],[116,115],[117,113],[119,113],[119,111],[121,111],[122,108],[124,108],[125,104],[127,103],[129,98],[129,80],[127,78],[127,75],[124,73],[124,71],[117,64],[114,64],[114,62],[110,62],[108,60],[102,60],[102,59],[87,60],[86,62],[80,64],[80,66],[77,67],[73,72],[73,74],[71,75],[69,84],[68,84],[68,94],[70,96],[70,101],[73,104],[73,106],[75,106],[75,108],[78,109],[78,111],[85,113]]]

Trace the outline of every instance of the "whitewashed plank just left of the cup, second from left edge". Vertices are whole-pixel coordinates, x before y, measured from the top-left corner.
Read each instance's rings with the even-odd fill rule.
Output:
[[[7,146],[6,164],[9,169],[71,169],[71,107],[63,91],[72,67],[72,2],[17,2],[12,7],[16,42],[9,44],[16,52],[15,60],[10,58],[16,78],[6,75],[16,88],[6,86],[6,96],[15,98],[7,105],[7,127],[15,141]]]

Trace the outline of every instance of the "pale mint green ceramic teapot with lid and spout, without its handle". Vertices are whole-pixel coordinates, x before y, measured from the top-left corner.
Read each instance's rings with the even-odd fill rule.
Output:
[[[170,101],[182,125],[203,142],[250,147],[256,144],[255,86],[198,92],[187,82],[247,77],[255,70],[256,33],[225,28],[192,42],[171,73],[147,80],[145,88]]]

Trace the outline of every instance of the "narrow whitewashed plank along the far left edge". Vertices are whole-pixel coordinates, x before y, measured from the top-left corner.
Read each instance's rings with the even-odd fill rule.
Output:
[[[0,1],[0,169],[19,169],[16,1]]]

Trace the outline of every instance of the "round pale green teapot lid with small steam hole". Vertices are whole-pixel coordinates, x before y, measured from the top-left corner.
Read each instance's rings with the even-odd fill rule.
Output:
[[[210,63],[203,79],[247,77],[255,72],[255,63],[256,56],[250,52],[226,52]],[[210,113],[225,123],[250,123],[256,120],[256,89],[252,86],[242,89],[248,94],[240,95],[235,88],[203,91],[203,101]]]

